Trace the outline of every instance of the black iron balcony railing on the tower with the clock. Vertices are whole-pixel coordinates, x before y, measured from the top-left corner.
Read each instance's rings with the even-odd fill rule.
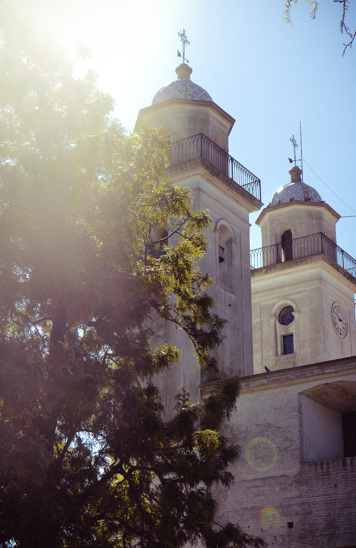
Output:
[[[279,262],[301,259],[318,253],[325,253],[330,259],[356,277],[356,260],[348,253],[345,253],[323,232],[276,243],[273,246],[252,249],[250,251],[251,269],[277,265]]]

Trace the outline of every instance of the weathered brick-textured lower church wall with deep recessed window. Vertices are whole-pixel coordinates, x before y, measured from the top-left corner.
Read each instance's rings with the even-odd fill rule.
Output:
[[[355,357],[240,381],[223,433],[241,458],[234,486],[215,491],[219,518],[267,546],[356,546],[356,459],[343,457],[341,420],[356,409]]]

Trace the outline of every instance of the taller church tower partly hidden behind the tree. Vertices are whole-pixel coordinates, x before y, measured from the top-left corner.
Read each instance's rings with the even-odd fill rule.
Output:
[[[262,206],[260,180],[228,154],[234,119],[191,81],[187,64],[177,67],[176,73],[177,79],[157,92],[152,105],[140,110],[135,129],[143,123],[162,128],[170,139],[167,175],[174,185],[191,189],[194,208],[209,210],[210,247],[199,269],[214,276],[216,283],[209,291],[214,311],[228,320],[227,342],[215,354],[220,378],[249,375],[253,373],[249,213]],[[154,330],[182,350],[180,362],[157,381],[169,418],[179,387],[184,386],[196,402],[199,385],[206,379],[185,334],[163,323]]]

